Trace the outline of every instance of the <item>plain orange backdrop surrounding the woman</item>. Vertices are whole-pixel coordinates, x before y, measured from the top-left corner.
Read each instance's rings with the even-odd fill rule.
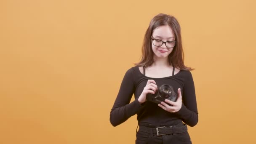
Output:
[[[195,144],[255,144],[254,0],[1,0],[0,144],[134,144],[109,113],[158,13],[194,67]]]

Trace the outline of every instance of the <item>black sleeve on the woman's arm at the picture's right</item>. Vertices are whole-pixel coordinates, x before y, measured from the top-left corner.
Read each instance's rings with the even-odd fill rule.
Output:
[[[197,101],[195,96],[195,85],[190,71],[185,78],[185,84],[182,91],[182,106],[176,114],[184,123],[193,127],[198,122]]]

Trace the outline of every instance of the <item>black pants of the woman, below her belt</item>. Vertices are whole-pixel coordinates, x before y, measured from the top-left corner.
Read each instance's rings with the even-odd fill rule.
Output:
[[[182,126],[183,123],[176,125]],[[157,136],[152,132],[138,131],[136,132],[136,144],[192,144],[189,133],[175,133],[163,136]]]

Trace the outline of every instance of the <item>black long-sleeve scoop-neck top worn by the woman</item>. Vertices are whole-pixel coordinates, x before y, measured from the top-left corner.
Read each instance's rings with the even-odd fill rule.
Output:
[[[155,80],[157,86],[171,85],[176,93],[178,88],[181,88],[182,106],[178,112],[167,112],[151,101],[139,103],[138,98],[146,86],[147,80],[150,79]],[[135,100],[130,103],[133,94]],[[189,126],[195,126],[198,122],[198,112],[191,72],[180,70],[173,76],[151,78],[143,75],[138,66],[128,69],[111,109],[110,123],[113,126],[120,125],[135,114],[137,114],[139,124],[164,125],[180,119]]]

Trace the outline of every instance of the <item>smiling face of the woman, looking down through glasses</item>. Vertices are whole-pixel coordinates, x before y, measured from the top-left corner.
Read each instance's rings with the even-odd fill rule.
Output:
[[[175,41],[175,35],[171,27],[169,27],[168,25],[164,25],[164,26],[157,27],[153,31],[152,39],[157,39],[154,41],[154,44],[156,45],[156,44],[162,43],[160,40],[162,40],[163,42]],[[153,44],[153,40],[151,40],[151,43],[152,43],[152,51],[155,53],[155,56],[157,58],[167,58],[168,55],[173,51],[173,48],[166,47],[166,45],[170,47],[171,45],[170,42],[166,43],[166,45],[165,43],[163,43],[163,45],[161,46],[155,46]]]

